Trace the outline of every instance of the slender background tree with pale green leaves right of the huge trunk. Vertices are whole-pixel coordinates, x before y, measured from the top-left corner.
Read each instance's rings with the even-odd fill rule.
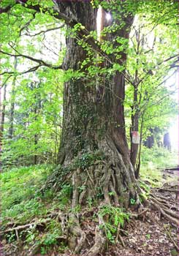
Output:
[[[168,6],[166,10],[167,8]],[[144,13],[142,15],[144,16]],[[136,177],[139,176],[136,163],[140,143],[132,143],[132,131],[140,132],[140,136],[142,135],[144,131],[140,131],[141,124],[144,124],[142,128],[144,128],[143,126],[146,128],[149,124],[146,116],[148,118],[151,116],[152,120],[151,127],[147,128],[149,130],[152,129],[155,122],[153,118],[163,117],[165,113],[168,116],[171,112],[177,113],[172,94],[178,89],[175,88],[175,85],[171,86],[172,88],[167,88],[165,85],[167,79],[170,78],[170,75],[167,78],[166,74],[170,73],[170,69],[175,68],[172,72],[174,75],[177,69],[175,67],[178,61],[177,25],[166,24],[164,18],[157,17],[153,26],[151,21],[149,22],[151,15],[145,13],[145,18],[143,16],[137,15],[132,27],[127,66],[129,87],[126,91],[128,95],[126,102],[129,102],[131,108],[131,160],[137,170]],[[172,37],[169,37],[169,29],[173,31]],[[169,38],[167,39],[167,37]],[[142,118],[145,121],[142,121]],[[163,121],[163,124],[160,125],[164,127],[166,124]]]

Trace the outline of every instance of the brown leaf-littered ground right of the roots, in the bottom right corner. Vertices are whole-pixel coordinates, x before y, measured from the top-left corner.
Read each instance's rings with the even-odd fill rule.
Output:
[[[176,176],[178,171],[165,172],[164,177]],[[171,183],[164,186],[173,187]],[[161,196],[171,203],[171,209],[178,213],[178,198],[171,192],[153,189],[153,194]],[[173,203],[175,202],[175,203]],[[160,217],[158,211],[148,210],[144,219],[132,219],[126,226],[128,236],[123,236],[125,247],[118,243],[110,246],[105,256],[178,256],[178,227],[171,225],[167,219]],[[101,256],[101,255],[100,255]]]

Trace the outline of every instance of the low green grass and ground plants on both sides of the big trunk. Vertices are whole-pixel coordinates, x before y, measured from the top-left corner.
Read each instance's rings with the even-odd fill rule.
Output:
[[[83,156],[75,164],[81,167],[85,160],[90,165],[94,158],[85,155],[85,158]],[[140,187],[145,191],[145,196],[148,197],[151,187],[160,187],[164,183],[161,170],[177,165],[178,156],[174,152],[171,153],[164,148],[143,147],[139,182]],[[32,165],[15,167],[0,174],[1,230],[7,229],[9,222],[24,225],[37,219],[45,219],[47,214],[53,211],[72,211],[69,205],[69,198],[72,198],[72,185],[62,184],[58,192],[50,188],[42,192],[41,189],[52,171],[54,171],[52,165]],[[131,205],[136,203],[135,200],[133,201],[131,199]],[[94,202],[89,198],[88,208],[91,209],[94,206]],[[74,211],[75,213],[81,211],[80,206]],[[121,208],[102,206],[99,209],[99,215],[104,219],[100,227],[106,234],[107,243],[115,243],[118,226],[123,227],[124,222],[129,220],[129,214]],[[24,241],[25,247],[33,244],[41,255],[47,254],[52,248],[56,248],[56,252],[64,252],[66,243],[63,239],[61,240],[61,236],[63,236],[61,225],[53,218],[41,229],[33,226],[20,232],[20,238]],[[5,238],[9,244],[17,243],[15,232],[7,233]]]

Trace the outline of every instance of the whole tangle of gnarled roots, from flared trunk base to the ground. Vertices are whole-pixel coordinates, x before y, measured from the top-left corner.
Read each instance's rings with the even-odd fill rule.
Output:
[[[110,145],[110,147],[113,147],[113,145]],[[163,217],[167,218],[174,225],[179,225],[178,214],[170,209],[171,203],[176,204],[175,200],[174,202],[171,200],[166,201],[164,197],[156,197],[153,194],[151,194],[151,197],[147,200],[143,195],[143,190],[139,187],[134,178],[131,167],[128,166],[127,168],[121,155],[118,154],[118,151],[115,151],[115,149],[110,151],[110,147],[108,145],[108,157],[106,156],[105,159],[96,159],[90,165],[85,165],[85,167],[78,166],[71,173],[68,173],[67,178],[72,178],[72,210],[79,204],[86,206],[89,202],[92,203],[93,201],[98,203],[102,201],[105,205],[128,208],[129,199],[133,198],[136,202],[134,207],[136,209],[138,208],[139,211],[137,214],[132,214],[132,217],[142,217],[142,219],[145,220],[148,218],[147,214],[151,207],[159,211]],[[176,193],[176,189],[161,190]],[[99,224],[96,225],[95,232],[93,230],[94,233],[92,235],[94,242],[87,243],[88,235],[83,228],[80,227],[80,218],[75,215],[74,212],[75,211],[71,211],[68,214],[53,212],[48,214],[47,219],[44,219],[42,222],[34,220],[27,225],[11,227],[1,231],[0,236],[5,233],[15,232],[18,239],[18,233],[21,232],[21,230],[26,230],[31,226],[37,227],[38,225],[45,225],[47,222],[50,222],[51,219],[56,218],[56,221],[61,222],[63,236],[60,238],[64,239],[72,252],[75,254],[84,254],[86,250],[85,247],[91,246],[91,244],[92,246],[86,253],[86,256],[96,256],[104,252],[107,247],[107,235],[102,227],[104,227],[107,221],[107,219],[105,219],[107,216],[103,219],[102,215],[98,214]],[[93,211],[91,212],[91,215],[92,214]],[[83,216],[83,214],[80,216]],[[124,230],[121,230],[121,225],[118,224],[115,242],[121,241],[121,244],[125,247],[121,232],[126,235]]]

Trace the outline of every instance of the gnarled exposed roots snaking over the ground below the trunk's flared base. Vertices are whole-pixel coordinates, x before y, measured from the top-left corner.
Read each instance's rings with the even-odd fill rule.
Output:
[[[174,211],[170,211],[170,209],[167,206],[163,207],[162,203],[157,200],[157,197],[153,196],[150,200],[150,203],[151,203],[151,206],[153,206],[153,208],[157,209],[161,213],[161,215],[169,219],[170,222],[174,223],[175,225],[179,224],[177,214],[175,214]],[[137,217],[137,218],[142,217],[143,219],[148,218],[147,216],[148,211],[149,211],[149,208],[141,208],[141,211],[138,214],[132,214],[131,217]],[[94,211],[89,211],[90,216],[93,213]],[[85,212],[85,214],[88,214],[88,212]],[[51,218],[56,217],[56,220],[61,222],[61,229],[63,231],[63,236],[59,237],[61,241],[65,241],[68,244],[69,249],[71,249],[72,252],[74,252],[74,254],[80,254],[80,252],[84,254],[84,249],[91,243],[87,243],[88,238],[85,235],[85,231],[82,230],[82,228],[80,227],[80,221],[78,217],[72,213],[64,214],[62,212],[53,212],[49,214],[49,216],[51,216]],[[83,216],[83,214],[81,214],[80,216]],[[94,245],[91,246],[91,248],[88,250],[88,252],[86,253],[86,256],[96,256],[99,253],[104,252],[107,246],[107,236],[102,228],[102,226],[104,226],[104,219],[100,214],[98,214],[98,219],[99,219],[99,224],[96,225],[96,229],[95,229]],[[20,233],[22,230],[28,229],[31,226],[35,227],[37,225],[45,225],[45,223],[49,221],[50,221],[50,218],[48,217],[42,222],[36,221],[36,222],[31,222],[27,225],[12,227],[2,231],[0,234],[4,235],[4,233],[9,233],[13,231],[16,233],[18,232]],[[118,241],[120,241],[123,247],[125,247],[123,238],[121,236],[122,231],[123,230],[121,230],[121,225],[119,224],[116,237],[115,237],[115,242],[117,243]],[[126,236],[126,233],[125,233],[125,236]],[[17,239],[18,239],[18,236],[17,236]],[[172,237],[170,238],[170,240],[172,241]],[[37,248],[35,247],[33,249],[33,252],[37,252],[39,249],[40,249],[40,244],[39,246],[37,246]]]

